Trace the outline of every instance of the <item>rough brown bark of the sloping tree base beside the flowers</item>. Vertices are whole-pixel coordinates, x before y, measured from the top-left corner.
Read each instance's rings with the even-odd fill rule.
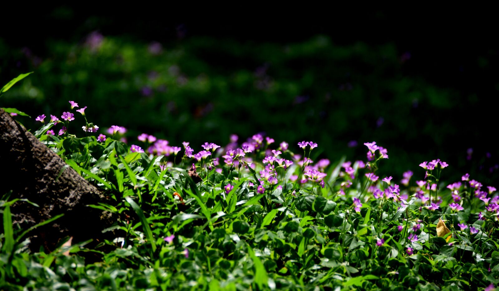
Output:
[[[73,242],[96,239],[102,237],[102,229],[112,224],[109,213],[86,206],[105,202],[99,190],[71,167],[59,176],[66,163],[1,108],[0,163],[1,193],[12,190],[10,200],[25,198],[39,205],[15,203],[11,207],[14,224],[25,229],[64,214],[30,233],[31,250],[43,246],[53,251],[66,236],[72,236]]]

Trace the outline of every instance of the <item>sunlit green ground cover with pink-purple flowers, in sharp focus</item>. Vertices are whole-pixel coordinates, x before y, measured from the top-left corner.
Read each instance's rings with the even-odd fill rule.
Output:
[[[86,115],[92,105],[84,102],[68,100],[63,112],[30,117],[40,125],[34,135],[112,201],[88,207],[127,216],[107,229],[116,237],[94,248],[67,237],[56,250],[30,252],[29,230],[13,226],[10,212],[13,203],[29,202],[10,199],[7,189],[0,204],[2,289],[498,285],[497,189],[467,173],[448,181],[445,161],[421,161],[396,181],[399,173],[378,176],[389,149],[376,142],[366,141],[365,158],[355,161],[329,161],[320,144],[261,133],[231,135],[226,145],[170,144],[94,124]],[[14,119],[25,115],[5,110]],[[98,260],[87,262],[89,253]]]

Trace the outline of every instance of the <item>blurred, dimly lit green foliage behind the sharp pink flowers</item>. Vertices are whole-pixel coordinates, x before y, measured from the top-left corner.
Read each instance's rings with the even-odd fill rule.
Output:
[[[480,165],[489,179],[497,176],[489,173],[490,160],[466,161],[466,149],[478,143],[469,127],[458,143],[473,96],[406,74],[410,54],[394,44],[335,45],[326,36],[287,44],[198,36],[160,44],[92,32],[79,43],[45,45],[48,54],[37,56],[0,39],[1,82],[35,72],[5,94],[2,107],[60,116],[74,100],[88,106],[88,121],[103,131],[127,127],[130,144],[147,132],[200,150],[205,141],[227,143],[233,133],[242,141],[265,132],[277,142],[313,140],[331,159],[365,159],[362,143],[376,141],[397,157],[387,162],[394,177],[435,158],[458,170],[447,178]],[[34,118],[18,119],[38,126]],[[347,148],[351,140],[358,146]]]

